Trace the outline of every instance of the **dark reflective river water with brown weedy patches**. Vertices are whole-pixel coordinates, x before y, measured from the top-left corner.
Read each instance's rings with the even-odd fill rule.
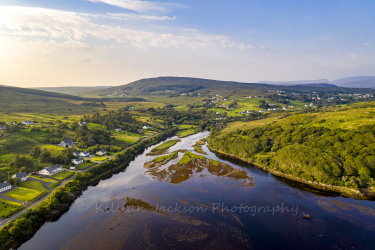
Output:
[[[145,168],[157,157],[148,148],[123,172],[89,187],[20,249],[374,249],[374,201],[319,192],[219,158],[205,145],[205,157],[237,174],[193,163],[180,171],[182,150],[194,152],[208,135],[181,139],[163,152],[181,150],[179,158],[158,168]]]

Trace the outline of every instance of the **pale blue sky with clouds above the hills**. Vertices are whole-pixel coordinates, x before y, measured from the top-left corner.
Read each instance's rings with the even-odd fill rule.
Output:
[[[0,0],[0,85],[372,75],[374,0]]]

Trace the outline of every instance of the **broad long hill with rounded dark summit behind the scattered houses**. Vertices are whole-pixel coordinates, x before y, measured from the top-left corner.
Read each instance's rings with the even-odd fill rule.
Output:
[[[311,86],[279,86],[265,83],[241,83],[230,81],[217,81],[190,77],[157,77],[138,80],[126,85],[94,91],[88,95],[96,96],[151,96],[151,95],[167,95],[169,97],[179,95],[265,95],[272,91],[286,92],[313,92],[322,91],[331,93],[356,93],[358,91],[364,93],[374,93],[371,90],[358,90],[334,87],[330,84]],[[329,87],[329,88],[328,88]],[[334,87],[334,88],[333,88]]]

